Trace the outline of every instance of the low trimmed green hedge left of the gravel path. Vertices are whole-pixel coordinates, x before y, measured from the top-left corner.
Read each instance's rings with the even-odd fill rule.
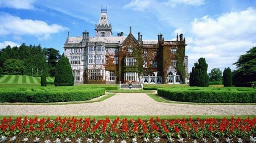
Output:
[[[0,91],[0,102],[67,102],[85,101],[105,94],[104,88],[20,88]]]

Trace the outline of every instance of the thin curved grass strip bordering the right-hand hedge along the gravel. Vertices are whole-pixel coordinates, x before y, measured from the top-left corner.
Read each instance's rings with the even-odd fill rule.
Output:
[[[196,103],[196,102],[180,102],[171,101],[169,99],[164,99],[164,97],[158,96],[158,94],[147,93],[149,97],[154,99],[156,102],[163,103],[175,103],[175,104],[190,104],[190,105],[256,105],[256,103]]]

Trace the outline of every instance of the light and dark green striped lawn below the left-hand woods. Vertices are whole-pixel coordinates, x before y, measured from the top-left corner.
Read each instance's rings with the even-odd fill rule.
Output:
[[[0,84],[40,84],[41,77],[22,75],[2,75]],[[47,77],[47,84],[53,84],[54,77]]]

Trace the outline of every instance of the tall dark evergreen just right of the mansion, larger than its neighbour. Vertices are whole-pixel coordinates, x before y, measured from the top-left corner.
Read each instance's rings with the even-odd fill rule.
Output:
[[[204,58],[199,58],[198,63],[195,63],[195,70],[192,68],[191,78],[189,79],[190,86],[209,86],[209,76],[207,74],[208,64]]]

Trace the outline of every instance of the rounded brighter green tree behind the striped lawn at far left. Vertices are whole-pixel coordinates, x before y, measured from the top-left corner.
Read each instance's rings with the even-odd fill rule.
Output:
[[[23,75],[25,66],[23,60],[7,59],[3,63],[3,73],[7,75]]]

